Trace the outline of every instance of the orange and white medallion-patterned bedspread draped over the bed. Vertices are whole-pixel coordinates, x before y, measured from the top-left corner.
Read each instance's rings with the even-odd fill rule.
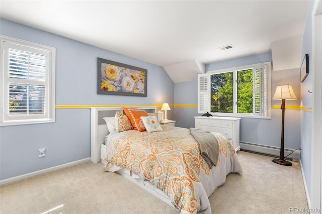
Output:
[[[202,174],[209,176],[211,169],[202,158],[199,144],[191,135],[190,129],[169,126],[162,128],[162,132],[129,130],[111,134],[106,160],[149,180],[164,191],[181,212],[199,212],[201,198],[208,200],[201,185],[200,174],[203,172]],[[225,137],[218,134],[216,138],[219,143],[216,167],[219,167],[222,157],[227,158],[228,155],[232,159],[236,153]],[[105,171],[110,171],[107,165]],[[202,209],[211,213],[209,200],[206,207],[206,202],[202,203]]]

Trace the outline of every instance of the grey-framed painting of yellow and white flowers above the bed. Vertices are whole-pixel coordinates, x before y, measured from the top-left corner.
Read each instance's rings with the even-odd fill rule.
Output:
[[[147,70],[98,57],[97,94],[147,96]]]

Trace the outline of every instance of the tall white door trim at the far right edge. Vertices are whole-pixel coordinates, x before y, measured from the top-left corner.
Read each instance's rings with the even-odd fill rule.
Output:
[[[307,182],[310,183],[310,207],[321,210],[322,204],[322,2],[315,1],[311,16],[312,22],[312,133],[311,133],[311,177]]]

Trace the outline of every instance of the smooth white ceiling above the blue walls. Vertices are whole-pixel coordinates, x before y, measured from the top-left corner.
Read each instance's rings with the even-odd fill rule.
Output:
[[[272,41],[303,34],[309,4],[309,0],[1,0],[0,17],[169,67],[268,52]],[[234,48],[217,49],[230,44]]]

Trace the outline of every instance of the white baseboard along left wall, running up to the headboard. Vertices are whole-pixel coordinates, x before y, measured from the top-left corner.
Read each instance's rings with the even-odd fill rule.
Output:
[[[24,175],[19,175],[19,176],[16,176],[16,177],[5,179],[5,180],[0,180],[0,186],[4,185],[4,184],[15,182],[15,181],[19,181],[19,180],[22,180],[22,179],[30,178],[30,177],[33,177],[33,176],[36,176],[36,175],[40,175],[40,174],[44,174],[44,173],[47,173],[47,172],[55,171],[57,169],[62,169],[62,168],[66,168],[66,167],[69,167],[69,166],[77,165],[77,164],[80,164],[80,163],[83,163],[83,162],[86,162],[86,161],[89,161],[89,160],[91,160],[91,159],[90,158],[85,158],[85,159],[82,159],[82,160],[77,160],[77,161],[65,163],[65,164],[62,164],[62,165],[50,167],[50,168],[47,168],[47,169],[42,169],[42,170],[39,170],[39,171],[27,173],[27,174],[24,174]]]

